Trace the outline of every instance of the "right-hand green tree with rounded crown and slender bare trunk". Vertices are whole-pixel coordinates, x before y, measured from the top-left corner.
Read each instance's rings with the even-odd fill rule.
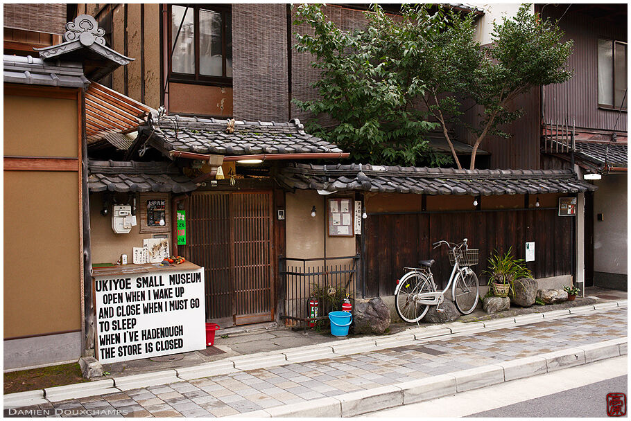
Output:
[[[531,14],[530,5],[522,5],[515,17],[504,18],[493,26],[493,42],[483,48],[477,69],[461,75],[469,81],[462,92],[482,108],[479,125],[469,127],[476,136],[471,170],[475,168],[478,146],[487,134],[510,137],[501,125],[523,113],[510,109],[512,100],[533,87],[566,82],[573,74],[567,65],[572,40],[561,42],[563,33],[557,22]]]

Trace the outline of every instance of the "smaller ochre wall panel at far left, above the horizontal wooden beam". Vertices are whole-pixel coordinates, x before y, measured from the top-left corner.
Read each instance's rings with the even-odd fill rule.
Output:
[[[76,100],[6,95],[4,155],[78,156],[77,119]]]

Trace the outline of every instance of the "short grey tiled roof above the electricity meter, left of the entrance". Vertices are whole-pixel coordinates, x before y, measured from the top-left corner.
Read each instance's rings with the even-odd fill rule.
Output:
[[[88,187],[91,192],[189,192],[196,184],[168,162],[92,161]]]

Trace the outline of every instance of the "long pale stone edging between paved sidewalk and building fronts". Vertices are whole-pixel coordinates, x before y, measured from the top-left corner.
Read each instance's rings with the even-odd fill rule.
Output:
[[[606,306],[603,307],[603,305]],[[423,328],[408,329],[405,332],[401,332],[401,334],[397,334],[394,337],[375,336],[351,338],[343,339],[339,342],[322,343],[318,346],[312,347],[300,347],[295,349],[290,348],[282,352],[260,352],[258,354],[243,355],[231,357],[230,359],[212,361],[210,363],[201,364],[200,366],[178,368],[178,370],[163,370],[154,373],[98,380],[96,382],[71,384],[68,386],[56,386],[40,391],[11,393],[9,395],[5,395],[4,400],[5,402],[12,402],[11,404],[13,405],[13,407],[30,406],[36,404],[33,402],[40,402],[40,399],[44,399],[44,401],[49,400],[51,402],[58,402],[60,400],[70,399],[71,397],[88,397],[94,395],[102,395],[105,393],[116,393],[119,391],[127,391],[133,388],[159,386],[162,384],[181,382],[182,380],[191,380],[202,377],[210,377],[214,375],[236,373],[237,371],[241,370],[254,370],[257,368],[282,366],[285,364],[293,364],[296,362],[315,361],[316,359],[337,357],[340,355],[358,354],[361,352],[368,352],[378,349],[397,348],[397,346],[409,345],[410,343],[416,342],[423,343],[425,341],[435,340],[440,337],[451,337],[452,335],[463,336],[465,334],[474,332],[484,332],[488,330],[510,328],[510,326],[512,325],[517,326],[526,323],[538,323],[541,321],[549,321],[576,314],[589,314],[589,312],[607,311],[612,310],[616,307],[625,306],[627,306],[627,301],[622,300],[618,302],[573,307],[569,310],[555,310],[553,312],[546,313],[523,314],[521,316],[505,318],[508,319],[506,321],[506,324],[499,323],[499,319],[496,319],[497,321],[494,321],[495,323],[490,323],[491,321],[478,321],[472,323],[451,322],[444,323],[443,325],[428,325],[424,326]],[[488,327],[485,327],[485,323]],[[412,340],[411,338],[414,338],[414,340]],[[617,347],[619,355],[626,355],[626,338],[617,342]],[[576,360],[583,361],[582,364],[585,364],[585,359],[587,356],[586,352],[590,353],[590,357],[587,358],[598,358],[598,352],[604,352],[604,355],[607,355],[607,353],[612,353],[613,351],[600,351],[590,348],[587,351],[581,350],[581,352],[582,357],[576,357]],[[569,355],[564,356],[564,358],[568,361],[571,360]],[[567,363],[567,361],[560,361],[560,359],[562,359],[562,357],[554,359],[551,362],[551,366],[554,367],[555,364],[557,364],[557,366],[561,368],[562,366],[564,366],[564,364]],[[596,359],[594,359],[594,361],[596,361]],[[514,370],[517,370],[517,368],[514,368]],[[112,383],[107,385],[107,383],[103,382]],[[71,396],[69,395],[70,393],[72,393]],[[51,400],[49,397],[53,397],[53,400]],[[63,397],[63,399],[61,399],[60,397]],[[331,416],[338,417],[341,415]]]

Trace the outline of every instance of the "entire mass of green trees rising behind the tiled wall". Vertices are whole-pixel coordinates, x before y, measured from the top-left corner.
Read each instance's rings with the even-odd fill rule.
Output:
[[[312,119],[311,132],[352,152],[355,161],[445,165],[453,159],[461,168],[447,128],[463,124],[476,138],[469,165],[474,169],[485,136],[510,137],[501,127],[522,114],[511,108],[512,100],[539,84],[572,76],[567,58],[573,43],[561,42],[557,23],[532,15],[530,5],[494,23],[489,46],[475,41],[472,14],[431,13],[430,8],[404,4],[395,20],[373,6],[365,28],[343,31],[320,6],[297,6],[294,24],[306,24],[313,33],[297,33],[296,48],[315,57],[312,65],[321,77],[313,83],[320,98],[293,101],[338,122],[325,127]],[[481,106],[477,125],[463,121],[465,98]],[[437,127],[451,159],[429,150],[424,136]]]

